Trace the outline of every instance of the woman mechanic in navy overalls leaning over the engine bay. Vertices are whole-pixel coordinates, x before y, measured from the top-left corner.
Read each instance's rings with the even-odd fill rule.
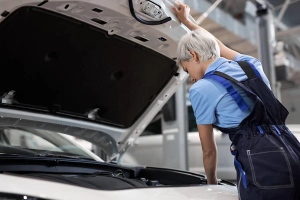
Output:
[[[229,135],[239,199],[300,199],[300,143],[285,126],[288,111],[273,95],[259,60],[240,54],[173,7],[191,32],[177,47],[189,89],[208,184],[217,184],[213,127]],[[229,150],[229,147],[228,147]]]

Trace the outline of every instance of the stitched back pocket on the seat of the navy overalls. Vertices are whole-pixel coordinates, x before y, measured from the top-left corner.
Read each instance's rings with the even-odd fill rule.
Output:
[[[247,150],[253,183],[260,189],[280,189],[294,186],[288,157],[282,147],[251,153]]]

